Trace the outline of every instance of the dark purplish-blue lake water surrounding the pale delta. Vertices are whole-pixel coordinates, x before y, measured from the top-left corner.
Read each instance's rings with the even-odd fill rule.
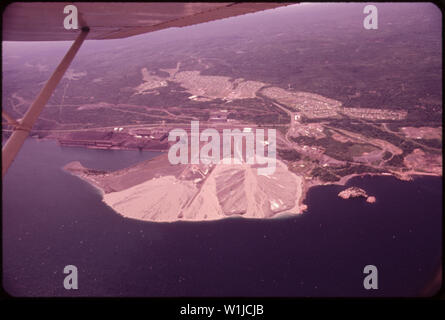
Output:
[[[3,286],[14,296],[416,296],[442,252],[442,181],[355,178],[377,203],[315,187],[309,211],[275,220],[125,219],[61,170],[117,169],[156,153],[28,140],[3,184]],[[63,268],[79,270],[65,290]],[[379,289],[363,288],[377,266]]]

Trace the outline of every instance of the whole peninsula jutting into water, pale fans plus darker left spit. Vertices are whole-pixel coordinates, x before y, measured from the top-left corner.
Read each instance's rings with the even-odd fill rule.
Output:
[[[99,188],[114,211],[138,220],[273,218],[305,208],[302,177],[279,160],[271,175],[258,175],[258,165],[247,163],[172,165],[166,154],[114,172],[91,170],[78,161],[64,169]]]

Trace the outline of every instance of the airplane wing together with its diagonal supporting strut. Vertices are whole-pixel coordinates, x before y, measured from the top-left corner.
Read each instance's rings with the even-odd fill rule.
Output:
[[[66,5],[78,10],[78,30],[66,30]],[[3,41],[74,40],[21,121],[2,112],[14,131],[2,149],[2,177],[85,39],[119,39],[172,27],[219,20],[291,3],[63,3],[9,4],[3,12]]]

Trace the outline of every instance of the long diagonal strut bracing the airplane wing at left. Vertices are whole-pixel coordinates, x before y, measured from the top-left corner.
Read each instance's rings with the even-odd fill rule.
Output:
[[[29,107],[28,111],[26,111],[23,119],[21,121],[16,121],[17,124],[14,126],[11,137],[9,137],[8,141],[6,141],[5,146],[2,149],[2,177],[5,176],[9,166],[14,161],[15,156],[25,142],[25,139],[28,137],[32,126],[53,94],[54,89],[59,84],[71,61],[73,61],[77,51],[79,51],[79,48],[85,40],[88,32],[88,27],[82,28],[82,32],[71,45],[71,48],[66,53],[65,57],[63,57],[56,70],[51,75],[51,78],[49,78],[49,80],[46,82],[45,86],[40,91],[31,107]]]

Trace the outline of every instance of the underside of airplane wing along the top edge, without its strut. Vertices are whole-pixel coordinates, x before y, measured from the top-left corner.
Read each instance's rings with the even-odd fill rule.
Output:
[[[185,27],[292,3],[11,3],[3,13],[3,41],[75,40],[78,30],[65,30],[66,5],[78,9],[79,28],[87,40],[126,38],[172,27]]]

